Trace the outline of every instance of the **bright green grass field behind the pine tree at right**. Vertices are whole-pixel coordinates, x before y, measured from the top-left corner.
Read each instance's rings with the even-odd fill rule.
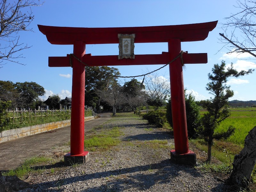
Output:
[[[201,169],[212,172],[229,172],[232,168],[235,154],[244,147],[244,139],[248,132],[256,125],[256,108],[230,108],[231,115],[220,123],[217,132],[225,131],[229,125],[233,125],[235,133],[225,141],[215,141],[212,146],[212,156],[216,157],[221,164],[203,164]],[[200,111],[203,115],[205,110]],[[190,140],[196,147],[207,153],[207,146],[202,145],[200,140]],[[256,182],[256,167],[252,172],[252,180]]]

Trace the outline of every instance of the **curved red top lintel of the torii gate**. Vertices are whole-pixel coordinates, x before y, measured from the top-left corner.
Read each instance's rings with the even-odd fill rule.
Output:
[[[74,44],[84,41],[86,44],[119,43],[117,34],[135,33],[135,43],[168,42],[177,38],[181,42],[202,41],[212,31],[218,21],[187,25],[124,27],[124,28],[72,28],[38,25],[51,44]]]

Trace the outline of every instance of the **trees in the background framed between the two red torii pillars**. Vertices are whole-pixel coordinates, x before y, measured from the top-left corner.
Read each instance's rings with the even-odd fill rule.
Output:
[[[157,110],[170,96],[169,79],[155,73],[144,77],[143,82],[133,78],[128,82],[118,82],[115,76],[117,68],[86,67],[85,69],[85,105],[101,110],[116,109],[135,111],[140,106],[154,106]],[[103,109],[101,109],[103,107]]]

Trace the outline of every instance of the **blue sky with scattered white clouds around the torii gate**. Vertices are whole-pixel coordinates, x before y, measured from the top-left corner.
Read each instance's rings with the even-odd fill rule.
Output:
[[[11,1],[10,1],[11,2]],[[14,1],[12,1],[14,2]],[[207,74],[214,64],[225,60],[227,64],[234,63],[238,70],[256,68],[255,63],[247,55],[226,54],[228,50],[218,40],[224,18],[236,13],[234,0],[45,0],[39,7],[32,7],[35,19],[30,25],[34,32],[21,32],[20,42],[31,48],[22,51],[24,59],[16,63],[7,63],[0,68],[0,80],[12,82],[36,82],[44,87],[46,94],[43,99],[52,94],[61,98],[71,97],[72,68],[48,67],[49,56],[66,56],[73,52],[72,45],[52,45],[45,35],[37,28],[39,25],[60,27],[144,27],[161,25],[181,25],[203,23],[219,20],[217,27],[209,33],[204,41],[181,43],[181,49],[188,53],[208,53],[207,64],[187,64],[183,71],[184,88],[196,97],[196,100],[209,99],[205,90],[208,81]],[[221,49],[221,51],[219,51]],[[167,43],[136,44],[136,54],[160,54],[167,52]],[[118,44],[86,45],[86,53],[92,55],[118,55]],[[238,59],[240,58],[240,59]],[[146,71],[155,70],[162,65],[116,66],[122,76],[141,75]],[[159,71],[159,76],[169,78],[169,68]],[[140,80],[141,78],[137,78]],[[122,82],[130,79],[121,79]],[[239,79],[230,78],[228,84],[235,92],[231,100],[256,100],[255,74]],[[86,98],[85,98],[86,99]]]

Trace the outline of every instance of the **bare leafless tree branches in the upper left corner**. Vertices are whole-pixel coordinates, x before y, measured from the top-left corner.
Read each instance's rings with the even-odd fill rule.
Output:
[[[8,3],[8,0],[0,1],[0,65],[7,61],[21,64],[17,59],[23,58],[20,51],[29,48],[27,44],[20,43],[20,31],[32,31],[28,28],[34,19],[31,6],[39,6],[40,0],[16,0]],[[3,63],[3,61],[6,61]],[[21,64],[24,65],[24,64]],[[3,66],[2,66],[3,67]],[[0,67],[0,68],[2,68]]]

